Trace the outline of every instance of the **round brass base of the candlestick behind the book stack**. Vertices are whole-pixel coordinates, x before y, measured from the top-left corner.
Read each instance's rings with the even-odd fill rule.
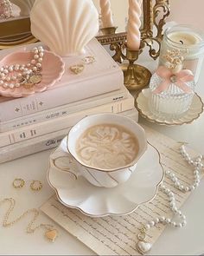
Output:
[[[140,90],[149,85],[151,78],[150,70],[137,64],[133,65],[133,72],[130,70],[129,64],[121,65],[121,69],[124,72],[124,85],[127,89]]]

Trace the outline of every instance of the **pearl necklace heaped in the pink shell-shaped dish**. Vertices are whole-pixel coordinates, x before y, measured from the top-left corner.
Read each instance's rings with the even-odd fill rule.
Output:
[[[6,65],[0,69],[0,86],[5,89],[14,89],[24,86],[31,88],[41,82],[41,62],[44,49],[40,46],[33,49],[34,58],[28,64]]]

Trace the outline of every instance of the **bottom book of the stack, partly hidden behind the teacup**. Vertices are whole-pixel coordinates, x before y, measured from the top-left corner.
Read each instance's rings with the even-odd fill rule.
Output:
[[[134,121],[138,121],[138,112],[136,108],[124,111],[118,115],[125,115],[131,117]],[[58,147],[61,144],[62,139],[68,134],[69,130],[70,128],[65,128],[48,135],[41,135],[28,141],[21,141],[14,145],[3,147],[1,148],[0,163]]]

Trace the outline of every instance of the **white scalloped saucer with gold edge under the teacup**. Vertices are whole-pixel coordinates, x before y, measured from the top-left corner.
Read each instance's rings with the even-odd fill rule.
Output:
[[[63,171],[69,161],[69,154],[63,151],[66,141],[67,137],[50,155],[48,167],[48,183],[64,206],[76,208],[91,217],[125,215],[156,197],[164,173],[160,154],[150,144],[128,181],[118,187],[105,188],[95,187],[83,177],[74,180],[73,174]]]

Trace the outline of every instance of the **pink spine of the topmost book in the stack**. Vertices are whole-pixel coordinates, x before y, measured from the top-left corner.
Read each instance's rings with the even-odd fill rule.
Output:
[[[97,82],[94,79],[73,82],[67,84],[67,86],[59,86],[29,97],[1,102],[0,121],[9,121],[71,102],[79,102],[80,100],[102,95],[123,87],[123,80],[118,75],[118,72],[113,72],[107,76],[99,77]]]

